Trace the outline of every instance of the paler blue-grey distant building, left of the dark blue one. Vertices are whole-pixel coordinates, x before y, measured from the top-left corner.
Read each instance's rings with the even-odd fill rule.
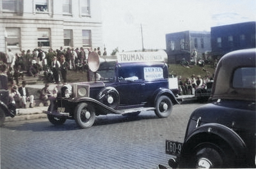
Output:
[[[189,61],[194,49],[197,52],[197,58],[202,58],[205,52],[211,52],[211,33],[184,31],[166,34],[166,52],[169,63],[179,63],[182,59]]]

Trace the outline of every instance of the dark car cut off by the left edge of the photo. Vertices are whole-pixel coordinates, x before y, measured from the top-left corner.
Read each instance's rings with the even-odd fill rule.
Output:
[[[1,63],[0,72],[5,70],[5,65]],[[8,80],[6,75],[0,74],[0,126],[3,125],[5,117],[14,117],[16,115],[15,102],[9,96]]]

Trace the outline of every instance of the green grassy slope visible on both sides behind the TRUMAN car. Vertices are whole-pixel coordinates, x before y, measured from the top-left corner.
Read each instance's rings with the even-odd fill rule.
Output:
[[[215,68],[212,68],[210,65],[205,65],[204,68],[200,66],[190,66],[184,67],[180,64],[169,64],[169,73],[172,75],[177,75],[178,77],[186,78],[191,77],[192,74],[201,75],[204,77],[205,75],[209,75],[210,77],[214,73]],[[68,82],[86,82],[87,81],[87,73],[76,71],[68,71],[67,75]]]

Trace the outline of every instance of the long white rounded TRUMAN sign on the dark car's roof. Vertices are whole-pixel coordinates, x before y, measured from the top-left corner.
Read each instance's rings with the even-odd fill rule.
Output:
[[[157,52],[122,52],[117,55],[118,62],[164,62],[167,54],[164,50]]]

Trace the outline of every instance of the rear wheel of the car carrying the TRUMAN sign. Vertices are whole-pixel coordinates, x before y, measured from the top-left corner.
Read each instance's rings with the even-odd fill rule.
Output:
[[[156,101],[155,113],[158,117],[168,117],[172,112],[172,101],[167,96],[160,96]]]

